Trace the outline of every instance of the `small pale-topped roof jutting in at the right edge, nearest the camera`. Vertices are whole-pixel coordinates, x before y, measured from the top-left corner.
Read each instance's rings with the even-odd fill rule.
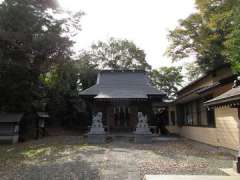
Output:
[[[205,102],[206,106],[221,106],[221,105],[229,105],[240,103],[240,87],[235,87],[230,89],[229,91],[217,96],[207,102]]]

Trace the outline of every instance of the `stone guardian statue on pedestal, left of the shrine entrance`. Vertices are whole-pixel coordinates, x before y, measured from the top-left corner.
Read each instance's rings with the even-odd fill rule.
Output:
[[[98,112],[96,116],[92,117],[92,126],[88,133],[88,143],[101,144],[106,141],[106,133],[102,123],[102,112]]]

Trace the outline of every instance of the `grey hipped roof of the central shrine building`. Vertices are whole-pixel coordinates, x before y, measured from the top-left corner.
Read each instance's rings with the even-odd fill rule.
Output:
[[[98,74],[97,83],[80,95],[95,96],[95,99],[147,99],[148,95],[165,93],[151,86],[145,71],[105,70]]]

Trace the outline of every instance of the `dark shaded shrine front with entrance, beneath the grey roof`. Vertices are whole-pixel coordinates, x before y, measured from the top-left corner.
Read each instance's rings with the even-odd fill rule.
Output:
[[[154,105],[156,106],[156,105]],[[109,133],[132,133],[138,123],[138,112],[147,116],[147,121],[152,133],[157,133],[158,124],[154,116],[151,101],[144,99],[111,99],[97,100],[92,106],[93,112],[102,112],[103,126]]]

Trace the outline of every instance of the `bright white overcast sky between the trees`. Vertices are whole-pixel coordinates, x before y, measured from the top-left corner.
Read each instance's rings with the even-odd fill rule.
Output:
[[[133,41],[146,53],[153,68],[172,64],[164,56],[168,31],[178,20],[195,12],[194,0],[58,0],[62,8],[83,11],[82,31],[75,37],[75,51],[90,48],[110,37]],[[191,61],[191,60],[190,60]]]

